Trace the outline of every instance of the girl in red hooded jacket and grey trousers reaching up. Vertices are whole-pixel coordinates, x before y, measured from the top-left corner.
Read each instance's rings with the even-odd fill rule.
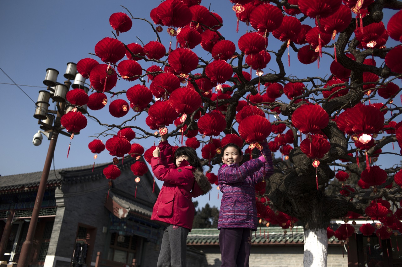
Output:
[[[164,181],[152,210],[152,220],[168,223],[163,233],[158,267],[186,266],[186,239],[193,226],[195,208],[191,198],[205,195],[212,187],[203,174],[195,149],[172,146],[162,135],[151,160],[155,177]]]

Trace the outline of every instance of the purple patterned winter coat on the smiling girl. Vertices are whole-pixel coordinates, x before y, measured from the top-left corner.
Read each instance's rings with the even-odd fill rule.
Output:
[[[255,184],[273,173],[271,151],[263,144],[263,155],[267,162],[251,159],[240,167],[233,163],[222,165],[218,171],[219,189],[223,193],[219,209],[218,229],[250,228],[257,230],[257,208],[255,203]]]

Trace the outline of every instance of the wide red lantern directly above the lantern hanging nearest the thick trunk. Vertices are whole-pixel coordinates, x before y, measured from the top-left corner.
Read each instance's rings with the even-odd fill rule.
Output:
[[[319,133],[329,122],[328,113],[318,104],[304,104],[292,114],[292,124],[302,133]]]

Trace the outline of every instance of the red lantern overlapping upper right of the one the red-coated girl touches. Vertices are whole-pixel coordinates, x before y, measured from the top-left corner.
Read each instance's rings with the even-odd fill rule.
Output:
[[[170,94],[169,103],[179,114],[192,114],[201,106],[202,100],[193,88],[182,87]]]

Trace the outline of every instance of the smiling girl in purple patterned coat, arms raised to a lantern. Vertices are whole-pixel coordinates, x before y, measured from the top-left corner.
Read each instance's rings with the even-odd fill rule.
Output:
[[[221,267],[248,267],[251,235],[257,230],[255,184],[273,173],[271,151],[267,143],[262,145],[263,155],[242,165],[243,155],[237,145],[230,143],[223,149],[224,165],[218,171],[223,193],[218,219]]]

